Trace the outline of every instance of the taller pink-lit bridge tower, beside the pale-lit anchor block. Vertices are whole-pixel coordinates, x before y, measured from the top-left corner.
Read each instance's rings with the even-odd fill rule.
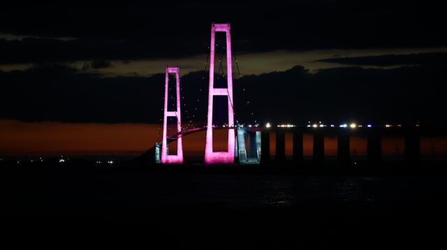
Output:
[[[214,43],[216,32],[226,32],[226,65],[227,65],[227,87],[214,88]],[[228,125],[234,126],[233,110],[233,71],[231,70],[231,37],[230,24],[211,25],[211,52],[210,52],[210,92],[208,94],[208,120],[207,138],[205,142],[205,163],[233,163],[235,158],[235,130],[228,130],[228,149],[226,152],[213,152],[212,149],[212,104],[214,96],[228,97]]]

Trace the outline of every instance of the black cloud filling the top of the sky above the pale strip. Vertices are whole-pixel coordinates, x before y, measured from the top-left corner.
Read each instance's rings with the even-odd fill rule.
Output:
[[[446,46],[439,1],[5,3],[2,63],[184,57],[207,52],[211,22],[231,22],[233,50]],[[75,38],[61,41],[51,38]]]

